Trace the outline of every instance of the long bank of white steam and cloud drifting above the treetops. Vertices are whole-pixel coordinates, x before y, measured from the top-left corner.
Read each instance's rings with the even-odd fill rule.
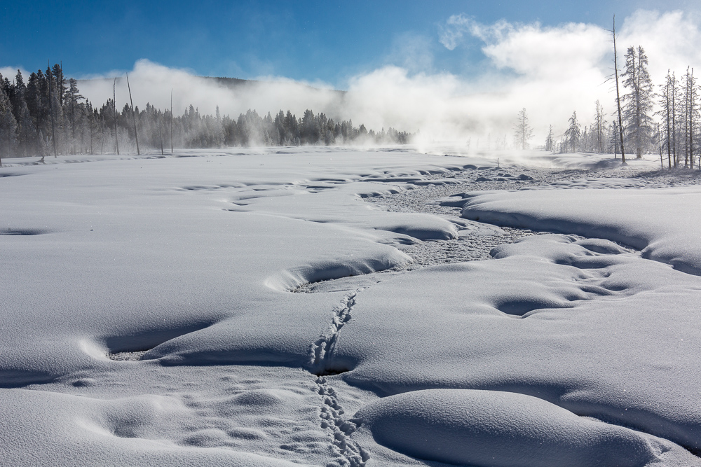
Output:
[[[697,20],[675,11],[638,11],[618,27],[620,58],[625,48],[641,45],[650,60],[653,83],[662,82],[667,69],[677,74],[686,67],[701,69],[701,27]],[[423,141],[462,141],[472,138],[486,145],[506,137],[520,109],[526,108],[541,144],[548,125],[562,134],[572,111],[580,123],[589,125],[594,102],[599,99],[607,113],[613,113],[611,34],[596,25],[567,23],[544,27],[538,23],[499,21],[484,25],[465,15],[454,15],[439,28],[438,39],[448,50],[465,43],[478,43],[488,66],[468,78],[448,73],[411,74],[407,69],[387,65],[348,80],[347,92],[325,83],[304,83],[266,77],[259,81],[227,87],[217,81],[193,76],[183,69],[171,69],[139,60],[129,72],[135,105],[147,102],[167,109],[173,90],[173,110],[182,113],[189,104],[200,113],[238,116],[247,109],[260,114],[290,109],[301,116],[305,109],[324,112],[330,118],[351,118],[368,129],[382,127],[420,131]],[[423,60],[423,59],[422,59]],[[2,70],[5,74],[4,69]],[[16,71],[14,72],[16,73]],[[14,76],[14,73],[6,76]],[[106,76],[123,76],[122,72]],[[104,78],[104,77],[103,77]],[[93,104],[111,99],[109,78],[83,81],[81,93]],[[128,99],[125,83],[117,82],[117,104]]]

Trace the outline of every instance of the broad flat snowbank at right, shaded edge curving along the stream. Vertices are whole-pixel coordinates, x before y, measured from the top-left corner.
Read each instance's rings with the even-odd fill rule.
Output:
[[[453,201],[454,202],[454,201]],[[701,275],[701,189],[520,190],[465,195],[462,216],[495,225],[613,240],[643,257]]]

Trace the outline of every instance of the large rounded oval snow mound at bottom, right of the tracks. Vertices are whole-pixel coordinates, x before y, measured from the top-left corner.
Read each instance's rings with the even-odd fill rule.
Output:
[[[667,450],[628,428],[500,391],[403,393],[361,407],[354,421],[399,452],[484,467],[645,466]]]

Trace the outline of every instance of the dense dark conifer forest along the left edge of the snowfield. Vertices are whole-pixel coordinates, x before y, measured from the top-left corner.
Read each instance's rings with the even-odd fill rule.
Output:
[[[190,105],[175,116],[170,109],[144,109],[116,99],[93,106],[80,94],[78,81],[65,78],[60,64],[39,69],[25,79],[18,70],[11,81],[0,74],[1,158],[118,153],[138,146],[161,152],[168,148],[221,148],[224,146],[300,146],[406,144],[407,132],[393,128],[380,132],[355,127],[352,120],[336,121],[324,113],[304,111],[297,118],[280,110],[275,116],[255,110],[238,118],[202,115]]]

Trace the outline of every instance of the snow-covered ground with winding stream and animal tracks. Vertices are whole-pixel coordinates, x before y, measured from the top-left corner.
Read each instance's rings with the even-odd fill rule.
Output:
[[[4,160],[0,465],[701,465],[699,172],[424,152]]]

